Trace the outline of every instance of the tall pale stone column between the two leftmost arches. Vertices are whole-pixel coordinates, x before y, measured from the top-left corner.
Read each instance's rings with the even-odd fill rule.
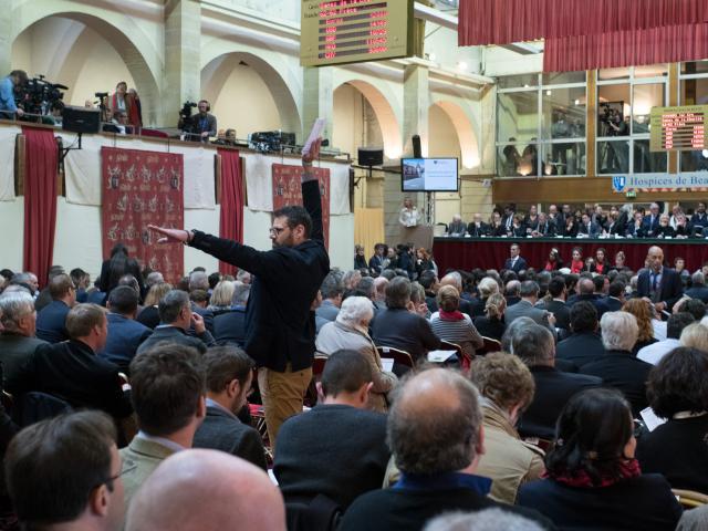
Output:
[[[200,98],[201,7],[196,0],[169,0],[165,6],[165,83],[160,123],[177,125],[177,112],[183,103]]]

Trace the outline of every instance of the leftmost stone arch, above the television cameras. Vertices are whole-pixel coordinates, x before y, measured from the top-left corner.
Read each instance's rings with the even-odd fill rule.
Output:
[[[75,2],[38,3],[39,4],[33,4],[30,9],[24,9],[21,13],[18,13],[15,18],[17,23],[13,28],[12,42],[33,24],[51,18],[69,19],[91,28],[114,48],[127,66],[128,72],[135,81],[135,87],[143,101],[144,122],[150,125],[158,124],[159,116],[162,115],[162,104],[158,77],[155,75],[155,72],[162,72],[163,63],[162,60],[153,60],[153,64],[148,64],[146,59],[147,52],[154,52],[152,56],[155,58],[155,46],[135,24],[127,23],[118,25],[117,21],[113,22],[107,20],[111,14],[125,18],[125,15],[119,13],[106,12],[94,14],[91,12],[76,11]],[[70,7],[70,9],[64,10],[62,9],[63,6]],[[90,7],[86,9],[90,9]],[[103,14],[105,14],[105,17],[103,17]],[[79,38],[75,31],[72,32],[72,35],[74,41]],[[146,53],[143,53],[140,50],[146,51]],[[62,43],[54,51],[58,60],[61,59],[65,52],[66,43]],[[56,81],[61,82],[61,80]]]

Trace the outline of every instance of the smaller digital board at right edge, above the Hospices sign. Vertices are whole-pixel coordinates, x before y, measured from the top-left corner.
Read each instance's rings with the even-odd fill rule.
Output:
[[[708,105],[653,107],[649,150],[700,152],[708,149]]]

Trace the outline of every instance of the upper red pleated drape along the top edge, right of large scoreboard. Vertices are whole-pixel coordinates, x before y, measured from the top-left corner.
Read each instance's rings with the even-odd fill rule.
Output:
[[[458,43],[509,44],[708,21],[706,0],[461,0]]]

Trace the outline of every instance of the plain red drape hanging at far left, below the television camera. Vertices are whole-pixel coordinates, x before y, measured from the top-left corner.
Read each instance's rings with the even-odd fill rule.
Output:
[[[25,138],[24,253],[25,271],[46,283],[54,254],[56,227],[56,166],[59,148],[54,132],[22,127]]]

